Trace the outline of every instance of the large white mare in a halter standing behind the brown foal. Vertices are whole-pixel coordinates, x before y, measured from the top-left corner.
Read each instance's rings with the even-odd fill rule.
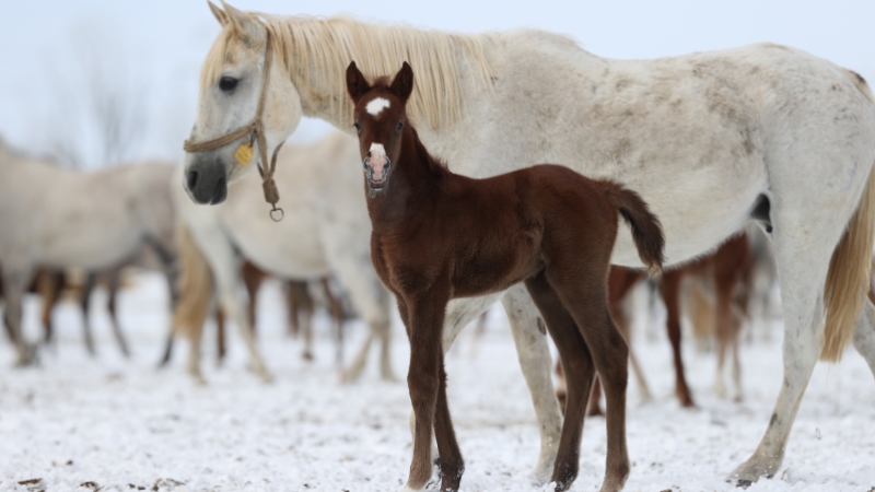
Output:
[[[838,360],[853,338],[875,372],[875,306],[865,302],[875,104],[855,73],[771,44],[626,61],[534,30],[462,35],[211,9],[222,31],[201,71],[191,142],[245,126],[261,97],[268,155],[302,115],[352,132],[349,62],[386,75],[407,60],[422,73],[408,113],[429,150],[454,172],[485,177],[549,162],[616,179],[660,216],[673,263],[714,248],[749,222],[771,231],[785,316],[784,382],[759,447],[732,472],[739,483],[779,469],[818,356]],[[268,60],[273,69],[265,78]],[[244,138],[186,155],[194,200],[220,200],[225,183],[245,172],[234,159]],[[612,260],[640,266],[627,233]],[[536,370],[526,364],[548,371],[537,356],[547,356],[546,341],[525,290],[504,298],[528,318],[528,327],[515,329],[530,336],[521,358],[544,452],[560,420],[552,395],[546,399],[544,388],[532,387]],[[452,341],[457,326],[447,323]],[[536,476],[548,475],[550,459],[541,454]]]

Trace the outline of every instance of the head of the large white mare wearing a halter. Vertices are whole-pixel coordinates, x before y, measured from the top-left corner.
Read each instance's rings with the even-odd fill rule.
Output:
[[[209,5],[222,31],[201,69],[197,116],[188,141],[197,145],[246,127],[256,117],[264,97],[264,134],[269,157],[301,121],[298,90],[277,52],[276,40],[271,43],[272,52],[268,52],[268,31],[256,15],[224,2],[224,10]],[[267,57],[272,60],[262,95]],[[242,145],[250,147],[242,149]],[[221,203],[228,197],[228,185],[259,164],[268,165],[260,162],[258,139],[252,134],[209,150],[186,152],[185,189],[197,203]]]

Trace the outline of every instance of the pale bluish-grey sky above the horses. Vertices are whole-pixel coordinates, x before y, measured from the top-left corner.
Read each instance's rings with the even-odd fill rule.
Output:
[[[232,4],[289,15],[342,12],[460,32],[538,27],[569,34],[584,49],[611,58],[654,58],[769,40],[830,59],[875,82],[874,0]],[[80,102],[86,99],[83,66],[100,59],[135,94],[144,115],[145,138],[131,156],[178,159],[194,117],[200,62],[218,31],[206,0],[8,2],[0,16],[0,136],[34,153],[47,152],[48,137],[58,131],[86,141]],[[326,128],[314,121],[302,127],[298,139],[315,138]]]

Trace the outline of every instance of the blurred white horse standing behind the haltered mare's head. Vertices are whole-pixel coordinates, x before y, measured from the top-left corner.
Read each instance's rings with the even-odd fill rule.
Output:
[[[320,279],[334,273],[370,328],[341,378],[359,378],[372,342],[378,340],[381,375],[394,379],[390,296],[371,263],[371,221],[355,173],[358,141],[334,132],[312,145],[287,145],[278,159],[276,179],[283,190],[285,213],[280,222],[273,222],[259,203],[261,185],[254,177],[235,185],[226,203],[210,208],[192,203],[178,181],[174,187],[176,208],[186,229],[179,234],[182,282],[174,325],[191,340],[189,372],[202,380],[199,345],[211,278],[219,303],[241,329],[257,371],[269,377],[249,335],[252,328],[237,289],[243,257],[287,279]],[[199,268],[205,261],[208,268]]]

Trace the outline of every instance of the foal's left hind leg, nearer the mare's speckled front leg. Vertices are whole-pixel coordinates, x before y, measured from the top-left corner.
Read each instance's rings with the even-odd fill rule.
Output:
[[[557,491],[563,491],[568,490],[578,477],[583,419],[595,377],[595,365],[574,319],[544,273],[526,280],[526,288],[559,349],[559,358],[568,383],[564,424],[550,479],[556,482]]]

